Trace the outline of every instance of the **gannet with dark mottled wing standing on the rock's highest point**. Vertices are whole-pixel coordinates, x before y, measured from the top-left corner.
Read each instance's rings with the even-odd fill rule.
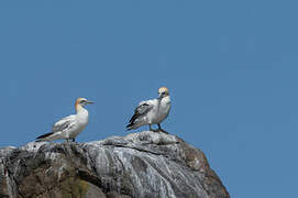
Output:
[[[141,125],[148,124],[150,131],[156,131],[152,129],[152,124],[157,124],[158,130],[167,133],[161,127],[161,123],[167,118],[170,110],[170,98],[168,89],[161,87],[158,89],[158,98],[147,101],[141,101],[134,110],[130,123],[126,125],[128,130],[137,129]]]

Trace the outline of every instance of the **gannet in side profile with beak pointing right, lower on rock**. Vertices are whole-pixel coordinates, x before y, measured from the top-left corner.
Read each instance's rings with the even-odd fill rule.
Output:
[[[53,141],[65,139],[75,142],[76,136],[88,124],[88,111],[84,107],[88,103],[93,103],[85,98],[78,98],[76,100],[76,114],[70,114],[60,119],[53,125],[52,132],[43,134],[36,138],[36,141]]]

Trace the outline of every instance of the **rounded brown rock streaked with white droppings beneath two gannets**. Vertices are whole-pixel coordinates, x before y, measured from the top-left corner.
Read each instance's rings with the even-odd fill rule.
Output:
[[[161,132],[0,150],[0,197],[229,198],[205,154]]]

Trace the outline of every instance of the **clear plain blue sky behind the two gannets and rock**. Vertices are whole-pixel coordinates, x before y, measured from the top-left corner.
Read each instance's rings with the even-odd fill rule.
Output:
[[[125,135],[165,85],[163,127],[207,154],[231,197],[295,197],[297,6],[1,1],[0,146],[48,132],[77,97],[96,101],[79,142]]]

